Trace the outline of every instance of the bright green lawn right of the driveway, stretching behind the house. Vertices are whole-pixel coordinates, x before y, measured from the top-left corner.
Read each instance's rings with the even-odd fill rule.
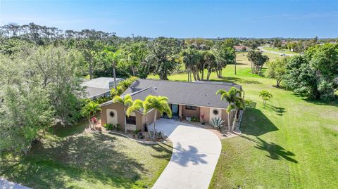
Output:
[[[275,80],[251,74],[249,62],[242,62],[237,75],[233,65],[223,70],[224,79],[211,75],[241,84],[256,107],[244,113],[243,135],[222,141],[210,188],[337,188],[338,100],[311,101],[277,89]],[[169,79],[187,81],[187,74]],[[266,107],[258,96],[262,89],[273,93]]]

